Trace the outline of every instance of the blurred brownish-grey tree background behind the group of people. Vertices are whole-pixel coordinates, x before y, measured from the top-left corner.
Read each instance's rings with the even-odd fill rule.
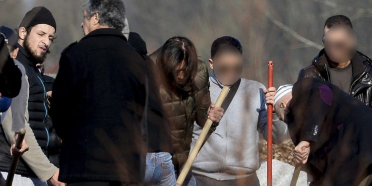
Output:
[[[62,50],[83,37],[84,0],[0,0],[0,24],[17,28],[34,6],[48,7],[57,21],[57,40],[45,62],[58,71]],[[327,17],[351,18],[359,50],[372,55],[371,0],[124,0],[130,31],[147,43],[149,54],[172,36],[189,38],[207,62],[210,45],[230,35],[243,45],[244,77],[266,84],[267,61],[275,62],[274,84],[294,83],[298,71],[322,48]]]

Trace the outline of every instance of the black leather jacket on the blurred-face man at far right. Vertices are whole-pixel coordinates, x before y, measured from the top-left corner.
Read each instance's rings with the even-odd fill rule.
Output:
[[[353,80],[349,94],[372,108],[372,60],[367,55],[356,52],[351,64]],[[314,58],[310,66],[300,70],[298,79],[306,77],[330,81],[324,49]]]

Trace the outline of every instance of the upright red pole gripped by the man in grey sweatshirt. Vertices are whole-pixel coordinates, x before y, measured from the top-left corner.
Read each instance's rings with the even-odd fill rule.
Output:
[[[268,62],[267,88],[273,87],[274,62]],[[272,110],[273,105],[267,105],[267,186],[272,186]]]

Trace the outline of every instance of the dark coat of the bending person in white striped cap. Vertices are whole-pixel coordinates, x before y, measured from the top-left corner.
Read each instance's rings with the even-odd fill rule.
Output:
[[[295,145],[310,141],[313,185],[353,186],[372,164],[372,110],[337,86],[296,82],[286,123]]]

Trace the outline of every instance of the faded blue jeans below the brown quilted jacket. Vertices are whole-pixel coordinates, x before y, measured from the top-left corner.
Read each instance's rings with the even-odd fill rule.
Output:
[[[144,185],[176,186],[175,168],[170,153],[147,153]]]

